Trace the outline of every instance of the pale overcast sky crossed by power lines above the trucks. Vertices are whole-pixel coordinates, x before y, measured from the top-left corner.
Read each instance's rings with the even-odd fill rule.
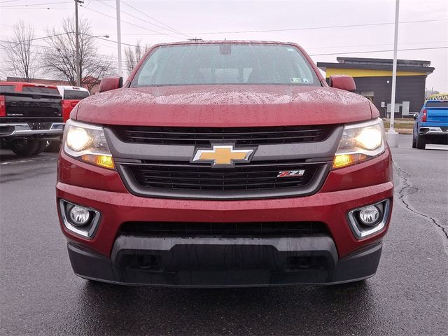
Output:
[[[110,36],[109,42],[98,41],[99,52],[116,57],[116,43],[111,42],[117,39],[116,0],[85,0],[83,6],[85,8],[79,9],[80,15],[90,20],[93,33]],[[314,62],[335,62],[337,56],[393,57],[391,51],[354,52],[393,49],[393,24],[378,24],[394,21],[395,0],[122,0],[121,11],[122,41],[130,44],[138,40],[154,44],[186,39],[186,36],[154,26],[162,26],[160,22],[163,22],[188,36],[204,40],[292,41],[302,45]],[[74,15],[74,2],[70,0],[0,0],[0,40],[10,37],[13,25],[19,20],[31,23],[36,36],[40,37],[45,36],[45,29],[58,25],[68,15]],[[426,22],[409,22],[422,20]],[[426,87],[448,92],[448,1],[401,0],[400,22],[399,49],[437,49],[398,51],[398,58],[429,60],[435,71],[428,76]],[[358,26],[335,27],[346,25]],[[279,29],[290,30],[260,31]],[[35,44],[45,45],[45,42],[41,40]],[[341,55],[318,55],[332,53]],[[4,69],[4,64],[0,59],[0,70],[2,66]],[[0,77],[4,76],[5,73],[0,72]]]

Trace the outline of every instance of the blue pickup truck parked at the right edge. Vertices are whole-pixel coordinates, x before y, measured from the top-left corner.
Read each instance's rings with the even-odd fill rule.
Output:
[[[426,144],[448,144],[448,94],[429,97],[414,119],[412,148],[425,149]]]

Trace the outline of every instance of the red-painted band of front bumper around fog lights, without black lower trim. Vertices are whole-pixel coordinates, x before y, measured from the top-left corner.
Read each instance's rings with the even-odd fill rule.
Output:
[[[379,200],[393,197],[393,184],[317,193],[309,197],[278,200],[200,201],[163,200],[136,197],[57,183],[57,197],[77,204],[87,204],[102,213],[94,239],[64,235],[73,241],[110,256],[120,225],[127,221],[251,222],[251,221],[322,221],[328,226],[340,257],[381,239],[386,230],[363,240],[353,237],[346,212]]]

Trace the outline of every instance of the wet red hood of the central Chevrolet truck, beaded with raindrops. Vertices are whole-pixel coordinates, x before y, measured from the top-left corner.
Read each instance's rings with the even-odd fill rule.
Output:
[[[370,102],[332,87],[189,85],[132,87],[83,99],[71,118],[102,125],[248,127],[351,123]]]

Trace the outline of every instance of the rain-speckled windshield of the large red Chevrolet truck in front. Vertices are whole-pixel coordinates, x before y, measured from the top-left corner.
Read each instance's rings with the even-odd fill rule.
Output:
[[[321,86],[307,59],[293,45],[204,43],[156,48],[131,87],[209,84]]]

